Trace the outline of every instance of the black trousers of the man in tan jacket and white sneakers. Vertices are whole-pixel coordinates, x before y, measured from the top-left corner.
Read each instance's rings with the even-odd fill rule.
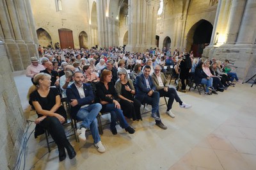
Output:
[[[172,104],[174,99],[176,100],[176,102],[181,102],[177,91],[175,88],[168,88],[168,91],[164,91],[164,89],[160,89],[159,91],[159,95],[160,97],[168,97],[168,104],[167,104],[167,111],[170,111],[170,109],[172,109]]]

